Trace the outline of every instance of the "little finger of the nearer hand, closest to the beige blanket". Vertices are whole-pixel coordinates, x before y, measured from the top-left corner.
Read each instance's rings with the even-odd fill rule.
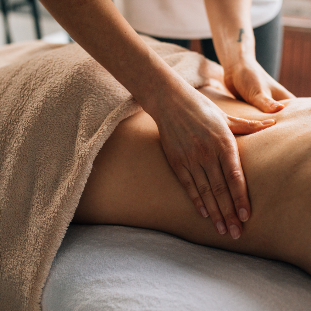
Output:
[[[189,170],[184,165],[181,165],[179,169],[174,168],[174,171],[177,177],[179,178],[180,182],[182,183],[183,187],[186,189],[188,196],[190,197],[197,211],[203,217],[205,218],[208,217],[209,216],[208,211],[204,205],[200,193],[197,190],[196,183]]]

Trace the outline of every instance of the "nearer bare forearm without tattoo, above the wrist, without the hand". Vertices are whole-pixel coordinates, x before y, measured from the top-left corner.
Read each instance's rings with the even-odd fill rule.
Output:
[[[182,79],[137,35],[111,0],[40,0],[61,26],[142,105]],[[156,94],[154,94],[156,90]],[[158,98],[157,103],[162,101]],[[150,105],[147,107],[147,105]],[[160,108],[160,107],[158,107]],[[152,110],[152,111],[151,111]]]

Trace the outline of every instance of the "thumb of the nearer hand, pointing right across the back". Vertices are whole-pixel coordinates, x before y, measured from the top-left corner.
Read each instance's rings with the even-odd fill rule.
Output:
[[[242,118],[235,118],[229,115],[227,115],[226,121],[233,134],[244,134],[244,135],[261,131],[275,124],[275,121],[273,119],[255,121],[255,120],[246,120]]]

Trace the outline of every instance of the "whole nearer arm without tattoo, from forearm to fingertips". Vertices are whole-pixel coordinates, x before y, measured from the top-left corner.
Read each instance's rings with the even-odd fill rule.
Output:
[[[274,122],[224,114],[146,45],[111,0],[40,1],[156,121],[169,163],[202,215],[211,215],[220,234],[229,229],[238,238],[250,205],[232,132],[248,134]]]

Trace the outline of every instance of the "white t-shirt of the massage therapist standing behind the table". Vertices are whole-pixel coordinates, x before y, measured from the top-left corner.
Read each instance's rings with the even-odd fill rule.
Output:
[[[211,38],[204,0],[113,0],[136,30],[174,39]],[[282,0],[253,0],[253,28],[271,21],[280,12]]]

